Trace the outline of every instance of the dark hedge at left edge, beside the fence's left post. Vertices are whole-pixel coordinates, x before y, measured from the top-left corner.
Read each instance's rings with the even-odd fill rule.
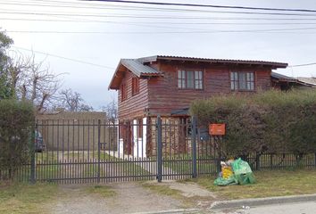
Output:
[[[34,109],[29,103],[0,100],[0,179],[29,161]]]

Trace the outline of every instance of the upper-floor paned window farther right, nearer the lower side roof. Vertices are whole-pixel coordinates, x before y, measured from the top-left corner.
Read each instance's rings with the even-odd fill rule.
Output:
[[[230,89],[234,91],[254,91],[254,72],[230,72]]]

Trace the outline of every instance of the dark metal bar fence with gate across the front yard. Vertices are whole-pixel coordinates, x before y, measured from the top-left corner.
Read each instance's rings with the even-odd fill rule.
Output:
[[[220,161],[238,157],[223,158],[219,144],[220,138],[196,128],[195,119],[41,120],[29,163],[11,173],[21,182],[71,184],[213,176]],[[242,158],[254,170],[316,168],[315,153]],[[0,171],[1,177],[5,174]]]

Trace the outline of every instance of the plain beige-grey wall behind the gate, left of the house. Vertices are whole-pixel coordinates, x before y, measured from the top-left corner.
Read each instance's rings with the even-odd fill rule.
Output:
[[[104,112],[64,111],[37,115],[37,129],[48,151],[96,151],[99,128],[101,149],[116,150],[117,128],[105,119]]]

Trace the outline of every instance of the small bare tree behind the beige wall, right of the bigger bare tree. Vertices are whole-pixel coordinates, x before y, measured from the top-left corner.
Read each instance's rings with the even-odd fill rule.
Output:
[[[81,95],[72,91],[71,88],[64,89],[59,94],[59,107],[67,111],[93,111],[93,108],[85,103]]]

